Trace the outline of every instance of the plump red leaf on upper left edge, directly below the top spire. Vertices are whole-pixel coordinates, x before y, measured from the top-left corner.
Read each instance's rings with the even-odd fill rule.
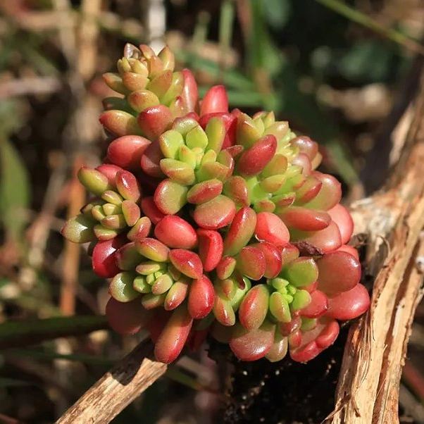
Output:
[[[118,137],[108,146],[108,159],[122,168],[137,170],[150,143],[150,140],[139,135]]]

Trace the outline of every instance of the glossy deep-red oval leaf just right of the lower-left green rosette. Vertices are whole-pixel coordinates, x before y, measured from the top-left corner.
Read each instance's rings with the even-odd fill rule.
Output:
[[[215,302],[215,290],[206,275],[193,280],[190,285],[188,309],[195,320],[205,318],[212,311]]]

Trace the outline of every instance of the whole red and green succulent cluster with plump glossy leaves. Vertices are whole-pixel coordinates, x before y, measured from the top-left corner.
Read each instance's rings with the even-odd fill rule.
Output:
[[[93,197],[63,235],[110,279],[111,327],[148,330],[158,361],[208,335],[244,361],[309,361],[369,306],[340,183],[316,142],[230,112],[222,86],[199,101],[174,67],[167,47],[127,44],[104,75],[107,157],[79,171]]]

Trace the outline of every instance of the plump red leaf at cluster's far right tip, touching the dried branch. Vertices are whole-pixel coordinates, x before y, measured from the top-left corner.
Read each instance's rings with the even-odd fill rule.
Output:
[[[362,315],[370,307],[370,296],[363,285],[358,284],[348,292],[328,299],[327,316],[337,320],[351,320]]]

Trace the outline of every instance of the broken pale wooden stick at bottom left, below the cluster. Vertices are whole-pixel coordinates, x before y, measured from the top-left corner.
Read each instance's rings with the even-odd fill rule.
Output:
[[[140,343],[108,371],[56,421],[56,424],[110,423],[147,387],[166,371],[164,363],[152,361],[151,342]]]

